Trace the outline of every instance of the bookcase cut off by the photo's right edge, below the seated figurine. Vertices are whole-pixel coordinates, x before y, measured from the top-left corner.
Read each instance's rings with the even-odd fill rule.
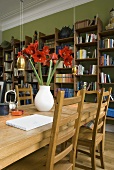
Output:
[[[114,108],[114,30],[99,33],[99,63],[98,63],[98,85],[99,88],[108,89],[112,87],[109,107]],[[114,118],[107,118],[112,119]]]

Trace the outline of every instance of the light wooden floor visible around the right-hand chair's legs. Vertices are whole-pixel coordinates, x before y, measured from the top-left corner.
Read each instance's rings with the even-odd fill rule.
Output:
[[[90,158],[87,156],[78,154],[77,159],[82,164],[90,165]],[[114,133],[106,132],[104,160],[105,170],[114,170]],[[100,160],[96,159],[96,165],[96,170],[102,170],[102,168],[100,168]],[[79,169],[80,168],[76,168],[76,170]]]

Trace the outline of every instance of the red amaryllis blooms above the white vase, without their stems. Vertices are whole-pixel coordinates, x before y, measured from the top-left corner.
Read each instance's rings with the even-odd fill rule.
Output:
[[[35,63],[42,63],[43,65],[50,65],[50,60],[53,61],[54,64],[56,64],[58,58],[60,60],[64,61],[65,66],[70,66],[72,64],[72,50],[69,49],[69,47],[65,46],[62,50],[59,50],[59,55],[56,53],[49,54],[50,50],[48,46],[44,46],[43,50],[38,50],[38,41],[35,43],[31,43],[28,45],[27,48],[25,48],[22,51],[22,54],[26,54],[27,56],[31,56],[34,59]],[[21,53],[18,53],[18,57],[21,55]]]

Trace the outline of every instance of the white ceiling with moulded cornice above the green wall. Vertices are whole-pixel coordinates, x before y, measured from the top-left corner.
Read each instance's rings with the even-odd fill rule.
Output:
[[[0,0],[0,30],[20,25],[22,4],[23,23],[27,23],[90,1],[92,0]]]

